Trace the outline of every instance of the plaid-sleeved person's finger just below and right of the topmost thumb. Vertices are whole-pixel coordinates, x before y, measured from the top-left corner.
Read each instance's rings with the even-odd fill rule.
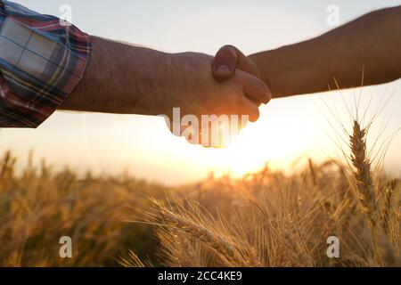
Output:
[[[272,99],[272,93],[265,82],[241,70],[237,70],[237,73],[244,93],[251,102],[259,105],[258,102],[266,104]]]

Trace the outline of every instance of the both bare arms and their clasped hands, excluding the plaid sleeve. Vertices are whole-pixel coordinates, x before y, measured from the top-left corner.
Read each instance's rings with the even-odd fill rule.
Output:
[[[248,57],[231,45],[212,57],[92,37],[84,77],[59,109],[162,114],[173,134],[219,147],[248,120],[256,121],[258,107],[272,94],[314,94],[360,86],[361,79],[377,85],[400,78],[400,15],[401,6],[370,12],[319,37]]]

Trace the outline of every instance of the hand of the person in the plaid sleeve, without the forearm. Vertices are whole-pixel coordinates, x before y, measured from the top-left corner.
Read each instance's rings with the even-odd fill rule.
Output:
[[[249,115],[258,119],[258,106],[270,99],[267,85],[248,72],[233,69],[225,83],[213,79],[213,58],[203,53],[179,53],[173,70],[176,84],[170,91],[168,108],[180,107],[182,114]]]

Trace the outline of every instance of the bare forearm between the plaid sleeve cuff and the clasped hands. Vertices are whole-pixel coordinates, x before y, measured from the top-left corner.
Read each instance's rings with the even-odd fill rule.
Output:
[[[92,37],[81,82],[61,110],[156,115],[173,90],[174,56]]]

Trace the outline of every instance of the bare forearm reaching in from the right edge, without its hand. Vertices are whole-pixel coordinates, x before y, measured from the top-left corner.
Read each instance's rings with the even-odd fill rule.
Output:
[[[371,12],[321,37],[250,55],[274,97],[387,83],[401,77],[401,6]]]

